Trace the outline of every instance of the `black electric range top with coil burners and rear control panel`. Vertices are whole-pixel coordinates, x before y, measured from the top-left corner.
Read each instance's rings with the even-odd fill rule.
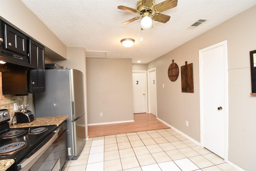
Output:
[[[10,115],[7,109],[0,110],[0,159],[14,159],[15,164],[32,156],[51,137],[56,125],[15,128],[9,127]],[[14,169],[18,170],[18,169]]]

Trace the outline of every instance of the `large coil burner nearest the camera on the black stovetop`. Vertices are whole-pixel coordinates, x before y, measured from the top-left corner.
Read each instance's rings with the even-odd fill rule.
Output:
[[[7,155],[19,151],[27,146],[27,142],[15,142],[0,147],[0,155]]]

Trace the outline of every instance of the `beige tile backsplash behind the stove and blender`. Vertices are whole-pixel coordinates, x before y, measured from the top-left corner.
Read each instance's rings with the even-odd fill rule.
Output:
[[[11,120],[14,116],[14,103],[16,99],[14,95],[3,95],[2,94],[2,73],[0,72],[0,109],[8,109]],[[16,123],[16,117],[13,119],[13,123]]]

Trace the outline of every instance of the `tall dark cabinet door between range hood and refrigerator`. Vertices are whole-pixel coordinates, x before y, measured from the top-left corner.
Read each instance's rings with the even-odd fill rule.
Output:
[[[28,77],[30,93],[45,90],[44,46],[30,39],[30,59],[35,70],[30,70]]]

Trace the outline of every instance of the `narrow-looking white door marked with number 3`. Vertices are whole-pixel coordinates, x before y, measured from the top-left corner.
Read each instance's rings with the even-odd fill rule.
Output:
[[[157,115],[156,112],[156,69],[148,70],[148,112]]]

